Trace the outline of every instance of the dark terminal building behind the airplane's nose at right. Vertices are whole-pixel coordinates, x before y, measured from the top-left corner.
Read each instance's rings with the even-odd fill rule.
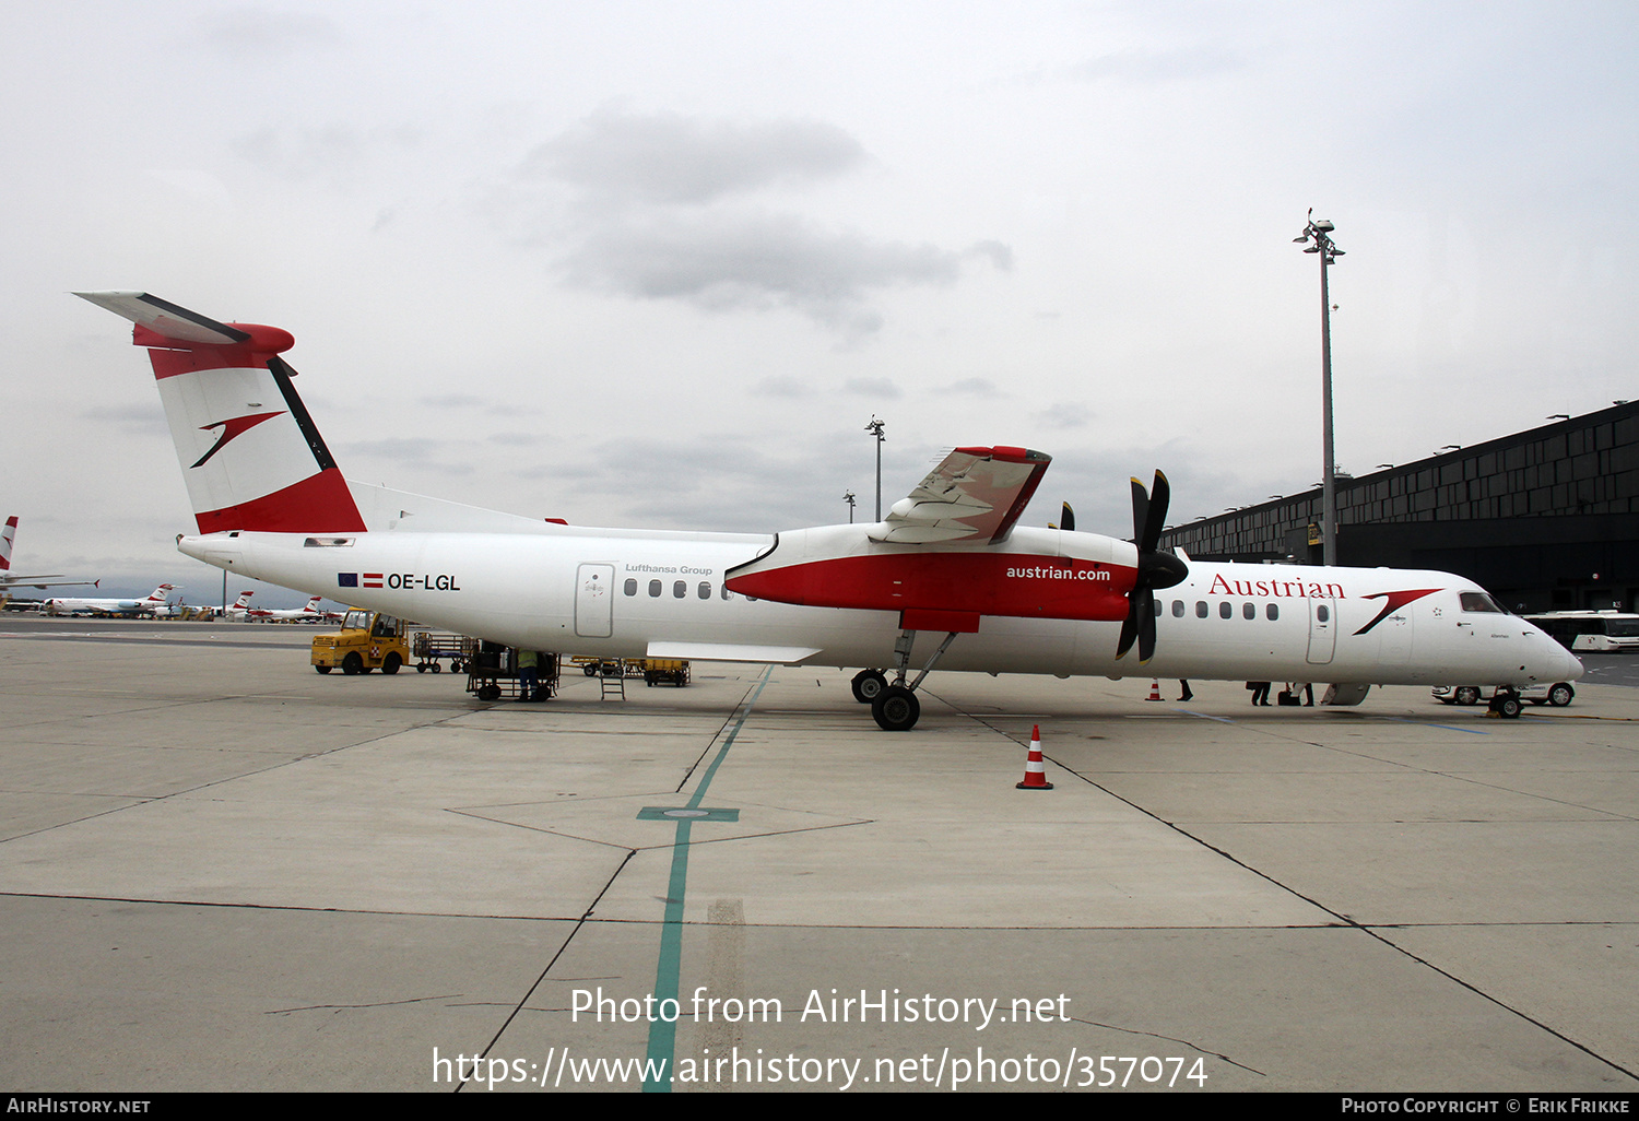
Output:
[[[1167,529],[1200,560],[1319,564],[1321,490]],[[1337,559],[1469,577],[1514,611],[1639,598],[1639,402],[1337,479]]]

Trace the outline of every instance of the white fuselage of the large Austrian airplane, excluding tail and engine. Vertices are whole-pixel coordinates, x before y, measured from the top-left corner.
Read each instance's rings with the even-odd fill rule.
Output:
[[[644,657],[672,644],[697,647],[695,657],[711,647],[741,660],[892,667],[900,634],[895,611],[724,598],[724,572],[764,552],[767,536],[392,531],[310,541],[329,539],[208,534],[179,547],[241,575],[521,649]],[[1408,588],[1434,590],[1372,624],[1383,593]],[[1116,660],[1119,623],[985,616],[977,634],[957,636],[939,669],[1382,685],[1580,677],[1580,664],[1524,620],[1462,611],[1459,592],[1469,590],[1477,585],[1441,572],[1190,562],[1183,583],[1155,593],[1155,657],[1144,665],[1136,651]],[[911,665],[942,639],[919,633]],[[788,656],[756,657],[756,649]]]

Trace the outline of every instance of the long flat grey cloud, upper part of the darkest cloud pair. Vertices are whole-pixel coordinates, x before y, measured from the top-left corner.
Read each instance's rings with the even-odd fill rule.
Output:
[[[536,148],[524,169],[600,200],[706,203],[831,179],[864,164],[864,146],[823,121],[741,125],[600,111]]]

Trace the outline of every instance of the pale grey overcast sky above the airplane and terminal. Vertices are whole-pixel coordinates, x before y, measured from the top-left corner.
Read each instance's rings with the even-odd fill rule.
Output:
[[[1632,3],[7,3],[15,565],[220,574],[129,324],[292,331],[343,470],[593,526],[1054,457],[1131,534],[1639,397]],[[269,592],[264,598],[274,598]],[[295,601],[297,597],[287,597]]]

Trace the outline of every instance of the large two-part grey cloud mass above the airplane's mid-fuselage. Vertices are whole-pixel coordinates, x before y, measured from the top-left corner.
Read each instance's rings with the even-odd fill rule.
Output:
[[[757,198],[867,162],[823,121],[600,111],[536,148],[492,206],[518,244],[556,247],[572,285],[706,311],[785,308],[852,338],[880,329],[880,292],[951,285],[970,261],[1011,269],[998,241],[952,251],[874,238]]]

